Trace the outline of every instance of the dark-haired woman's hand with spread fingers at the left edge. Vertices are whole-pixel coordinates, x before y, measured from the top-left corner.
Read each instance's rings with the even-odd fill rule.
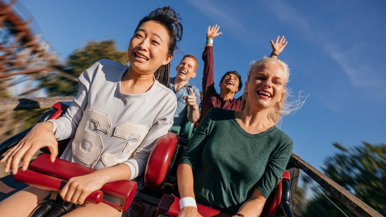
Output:
[[[49,121],[37,123],[31,131],[1,159],[0,163],[6,162],[4,172],[8,172],[11,169],[12,174],[16,174],[21,159],[23,159],[22,170],[25,171],[33,156],[43,147],[48,147],[48,150],[51,152],[51,162],[54,162],[58,155],[58,147],[52,128],[53,123]]]

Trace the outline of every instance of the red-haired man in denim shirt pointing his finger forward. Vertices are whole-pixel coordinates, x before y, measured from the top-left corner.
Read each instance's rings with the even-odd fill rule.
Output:
[[[191,55],[185,55],[176,71],[177,75],[170,78],[170,89],[177,97],[177,110],[174,113],[174,126],[182,126],[187,120],[194,123],[197,121],[200,112],[200,91],[193,84],[189,84],[189,80],[196,76],[197,59]]]

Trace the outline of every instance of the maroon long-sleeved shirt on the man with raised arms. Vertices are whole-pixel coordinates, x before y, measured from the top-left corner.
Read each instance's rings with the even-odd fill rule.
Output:
[[[204,72],[202,77],[202,103],[200,119],[213,107],[239,111],[242,96],[238,99],[225,100],[216,92],[214,88],[214,60],[213,47],[205,47],[202,53],[204,60]]]

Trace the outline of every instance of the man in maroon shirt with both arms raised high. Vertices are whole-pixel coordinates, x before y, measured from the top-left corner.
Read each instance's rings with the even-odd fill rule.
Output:
[[[213,57],[213,39],[221,35],[218,32],[220,26],[217,24],[208,27],[206,32],[206,46],[202,53],[202,60],[204,60],[204,71],[202,77],[202,104],[201,117],[206,112],[213,108],[219,107],[228,110],[240,110],[242,96],[234,99],[236,92],[241,90],[242,81],[241,76],[237,71],[226,72],[220,80],[220,94],[214,88],[214,57]],[[275,43],[271,41],[272,53],[270,57],[277,58],[284,50],[287,43],[284,36],[280,39],[278,36]]]

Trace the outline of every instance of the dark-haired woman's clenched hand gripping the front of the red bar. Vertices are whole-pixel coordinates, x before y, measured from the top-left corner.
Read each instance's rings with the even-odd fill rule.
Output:
[[[87,196],[99,190],[104,184],[103,178],[96,172],[72,177],[60,191],[60,196],[65,201],[83,204]]]

